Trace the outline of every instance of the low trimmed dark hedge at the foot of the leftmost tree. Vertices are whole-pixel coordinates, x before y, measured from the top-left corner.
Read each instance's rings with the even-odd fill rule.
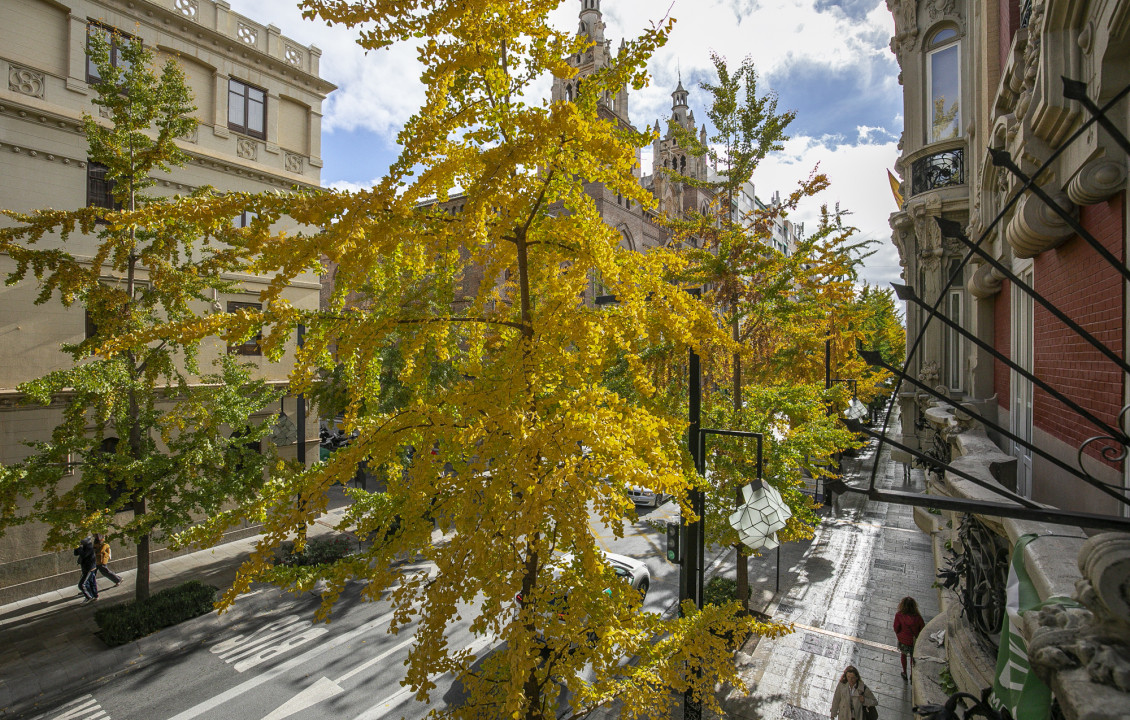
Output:
[[[190,580],[148,600],[99,608],[94,622],[102,630],[103,642],[113,648],[209,613],[215,601],[216,588]]]

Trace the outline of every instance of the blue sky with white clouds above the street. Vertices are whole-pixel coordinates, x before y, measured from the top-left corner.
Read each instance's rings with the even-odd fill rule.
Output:
[[[423,104],[415,49],[399,45],[365,53],[354,32],[304,20],[289,0],[231,0],[232,10],[322,50],[321,76],[338,86],[323,104],[322,184],[367,186],[381,177],[398,154],[397,133]],[[580,0],[563,0],[554,23],[577,25]],[[620,38],[670,15],[670,41],[649,66],[651,84],[628,102],[637,128],[655,120],[666,125],[671,92],[681,75],[696,120],[705,119],[706,94],[699,84],[714,81],[711,52],[730,67],[750,58],[758,92],[773,92],[777,110],[792,110],[790,140],[766,157],[754,174],[758,197],[785,194],[819,166],[832,186],[791,219],[815,224],[819,205],[849,210],[845,223],[858,238],[877,241],[862,278],[887,287],[898,280],[898,255],[890,243],[887,217],[895,200],[887,180],[898,157],[903,129],[898,66],[889,50],[894,21],[884,0],[601,0],[605,36],[612,50]],[[549,96],[549,79],[540,90]],[[709,129],[710,132],[712,129]],[[651,159],[645,156],[644,174]]]

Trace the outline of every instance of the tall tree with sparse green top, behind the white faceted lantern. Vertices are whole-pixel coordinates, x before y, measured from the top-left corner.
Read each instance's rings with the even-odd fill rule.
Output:
[[[758,163],[783,148],[789,139],[785,130],[794,113],[779,113],[773,93],[758,96],[757,72],[748,59],[731,70],[724,58],[718,54],[711,58],[718,81],[704,83],[702,88],[711,97],[706,115],[714,135],[703,144],[678,125],[675,130],[681,147],[705,155],[718,172],[706,181],[664,172],[680,182],[709,186],[715,193],[715,201],[711,211],[670,218],[668,226],[677,241],[696,240],[681,246],[687,260],[681,278],[709,288],[705,297],[730,329],[733,340],[733,350],[711,357],[705,368],[715,379],[725,374],[730,378],[729,383],[715,381],[725,389],[705,398],[709,424],[763,433],[774,431],[766,444],[768,477],[793,510],[783,535],[803,537],[811,532],[817,518],[812,501],[799,489],[800,468],[807,466],[816,474],[826,471],[814,460],[827,458],[850,444],[851,436],[836,431],[826,414],[814,415],[805,405],[810,401],[823,408],[823,374],[806,372],[805,364],[783,364],[780,356],[823,342],[828,319],[838,305],[851,300],[854,267],[866,246],[851,240],[851,228],[826,218],[791,255],[772,248],[774,225],[827,189],[827,177],[815,172],[782,201],[739,211],[734,198],[751,180]],[[751,405],[747,396],[759,405]],[[707,522],[707,531],[713,540],[734,545],[738,597],[746,604],[747,550],[725,519],[734,504],[744,502],[741,488],[754,479],[756,468],[739,457],[751,449],[737,450],[740,443],[723,439],[712,443],[714,450],[707,465],[712,469],[710,495],[716,514]],[[797,452],[798,448],[805,451]],[[785,467],[782,462],[785,458],[799,465]]]

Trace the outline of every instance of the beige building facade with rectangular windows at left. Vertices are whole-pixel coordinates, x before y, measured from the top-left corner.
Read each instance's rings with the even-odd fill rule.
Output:
[[[107,201],[99,167],[87,161],[82,113],[98,114],[90,102],[87,36],[112,32],[140,38],[158,64],[176,60],[197,106],[199,127],[179,142],[189,163],[155,175],[153,192],[319,186],[322,102],[333,86],[319,75],[316,47],[232,12],[223,0],[6,0],[0,8],[0,71],[8,79],[0,87],[0,207],[31,211]],[[233,218],[237,225],[246,220]],[[277,229],[297,228],[280,224]],[[81,257],[94,242],[72,237],[68,249]],[[0,272],[7,275],[10,267],[0,257]],[[214,306],[259,303],[266,279],[237,279],[242,290],[216,297]],[[285,295],[296,306],[315,309],[319,290],[319,278],[310,275]],[[79,341],[87,331],[81,307],[34,305],[35,292],[29,281],[0,290],[0,462],[6,463],[25,457],[24,441],[50,437],[59,417],[58,408],[19,405],[16,387],[69,365],[60,344]],[[242,359],[258,365],[262,378],[286,382],[286,362],[268,363],[258,346],[245,349]],[[210,358],[224,352],[219,340],[206,344],[201,366],[209,367]],[[294,418],[295,409],[295,398],[287,397],[266,414],[285,411]],[[316,422],[306,428],[306,457],[316,458]],[[284,456],[295,457],[296,439],[276,440]],[[44,553],[43,537],[43,528],[24,526],[0,538],[0,602],[73,583],[73,556]],[[155,559],[164,554],[158,550]],[[114,566],[130,567],[131,555],[132,548],[115,547]]]

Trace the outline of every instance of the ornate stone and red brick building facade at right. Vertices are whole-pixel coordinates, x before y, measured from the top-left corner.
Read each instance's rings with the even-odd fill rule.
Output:
[[[928,456],[915,462],[930,493],[1006,503],[1011,493],[1033,517],[1050,506],[1085,526],[915,509],[939,570],[955,572],[927,630],[947,630],[945,647],[915,652],[915,697],[938,700],[942,665],[976,695],[1024,679],[1020,666],[997,666],[1019,553],[1050,602],[1019,635],[1053,717],[1125,718],[1130,524],[1103,529],[1130,518],[1130,2],[887,7],[905,118],[903,205],[890,217],[909,288],[901,440]],[[1031,534],[1041,539],[1018,550]],[[1071,596],[1080,607],[1053,600]]]

